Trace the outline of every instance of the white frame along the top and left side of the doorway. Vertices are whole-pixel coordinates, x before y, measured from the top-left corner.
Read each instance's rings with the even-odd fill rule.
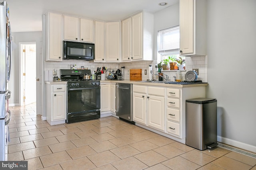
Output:
[[[23,76],[23,72],[22,72],[22,45],[29,45],[29,44],[35,44],[36,42],[19,42],[19,105],[23,106],[23,95],[22,95],[22,91],[23,91],[23,82],[22,82],[22,76]]]

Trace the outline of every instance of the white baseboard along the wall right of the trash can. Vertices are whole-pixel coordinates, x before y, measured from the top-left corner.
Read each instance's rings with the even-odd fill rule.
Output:
[[[232,139],[228,139],[228,138],[221,137],[221,136],[217,136],[217,141],[221,142],[221,143],[225,143],[225,144],[231,145],[231,146],[234,146],[234,147],[245,149],[245,150],[248,150],[248,151],[251,151],[251,152],[256,152],[256,146],[249,145],[247,143],[242,143],[242,142],[239,142],[239,141],[234,141]]]

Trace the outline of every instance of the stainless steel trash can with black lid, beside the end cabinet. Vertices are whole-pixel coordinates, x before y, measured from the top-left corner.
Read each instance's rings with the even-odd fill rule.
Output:
[[[217,100],[186,100],[186,145],[205,150],[217,143]]]

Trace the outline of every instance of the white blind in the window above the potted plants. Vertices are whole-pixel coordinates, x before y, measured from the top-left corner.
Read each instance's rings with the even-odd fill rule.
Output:
[[[158,53],[180,51],[180,27],[171,27],[158,31]]]

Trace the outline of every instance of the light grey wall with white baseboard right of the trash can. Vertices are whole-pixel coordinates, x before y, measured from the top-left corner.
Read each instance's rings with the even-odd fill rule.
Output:
[[[218,141],[256,152],[256,1],[207,2],[207,97],[217,98]]]

